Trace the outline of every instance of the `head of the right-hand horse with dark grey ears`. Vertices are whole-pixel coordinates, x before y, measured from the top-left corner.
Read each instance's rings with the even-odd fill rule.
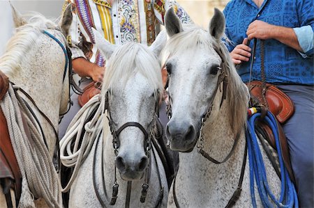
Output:
[[[170,36],[164,51],[172,114],[166,127],[170,148],[192,151],[204,121],[216,119],[225,99],[230,125],[239,131],[246,116],[239,112],[246,112],[248,93],[220,40],[225,31],[223,13],[215,9],[209,31],[205,31],[182,25],[169,10],[165,27]],[[241,122],[237,122],[240,117]]]

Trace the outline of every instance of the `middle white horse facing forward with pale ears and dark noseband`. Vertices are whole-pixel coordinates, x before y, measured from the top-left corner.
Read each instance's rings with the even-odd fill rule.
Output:
[[[93,120],[84,125],[85,136],[94,134],[96,138],[93,135],[87,138],[92,144],[87,158],[77,158],[82,165],[70,186],[69,207],[165,207],[168,194],[165,170],[150,141],[163,89],[157,57],[165,45],[165,33],[158,35],[151,47],[135,42],[111,45],[96,30],[94,36],[97,47],[107,60],[104,85],[100,93],[100,111],[98,109]],[[97,102],[98,97],[94,97],[86,106]],[[90,111],[85,108],[79,111],[60,142],[61,160],[63,150],[71,152],[63,145],[67,143],[68,136],[76,134],[75,120],[78,115],[84,118],[84,114]],[[106,116],[110,118],[109,124]],[[98,134],[100,131],[103,133]],[[82,146],[89,148],[84,141]],[[77,154],[83,154],[82,149],[77,150]],[[118,171],[116,174],[116,167],[120,174]],[[119,193],[113,206],[110,201],[115,198],[112,186],[116,183],[119,184]],[[147,184],[149,187],[144,200]],[[117,191],[117,188],[114,190]],[[140,198],[144,202],[140,202]]]

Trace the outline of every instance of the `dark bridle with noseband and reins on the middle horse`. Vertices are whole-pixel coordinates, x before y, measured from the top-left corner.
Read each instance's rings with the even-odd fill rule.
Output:
[[[119,153],[119,147],[120,147],[120,141],[119,141],[119,135],[121,134],[121,131],[123,131],[124,129],[126,129],[127,127],[137,127],[138,129],[140,129],[142,131],[142,133],[144,134],[144,149],[145,149],[145,154],[147,156],[147,158],[149,159],[149,164],[147,165],[147,168],[145,169],[145,173],[144,173],[144,183],[142,184],[142,193],[140,196],[140,202],[144,203],[147,197],[147,191],[149,189],[149,180],[150,180],[150,175],[151,175],[151,138],[154,135],[154,124],[156,122],[156,117],[158,116],[158,101],[159,101],[159,96],[156,99],[156,104],[155,104],[155,115],[154,118],[151,120],[150,122],[150,129],[149,131],[147,131],[139,122],[126,122],[124,125],[121,125],[121,127],[119,127],[119,129],[115,130],[114,128],[114,122],[112,120],[112,117],[110,115],[110,104],[109,104],[109,96],[111,94],[110,90],[107,90],[107,92],[105,93],[105,105],[104,105],[104,110],[103,113],[105,113],[105,111],[107,111],[107,119],[109,122],[109,127],[110,127],[110,132],[112,134],[112,145],[114,148],[114,157],[115,157],[115,161],[114,161],[114,184],[112,186],[112,197],[108,198],[107,197],[107,191],[105,189],[105,178],[104,178],[104,174],[103,174],[103,156],[101,157],[101,170],[102,170],[102,178],[103,178],[103,191],[105,193],[105,201],[104,202],[102,200],[102,198],[100,197],[100,193],[98,192],[97,186],[96,186],[96,173],[95,173],[95,157],[96,157],[96,152],[94,154],[94,163],[93,163],[93,184],[94,184],[94,191],[96,192],[96,196],[100,202],[100,204],[102,205],[102,207],[106,207],[106,204],[108,205],[115,205],[117,202],[117,195],[119,192],[119,184],[117,183],[117,155]],[[159,93],[157,92],[156,95],[159,95]],[[99,141],[99,140],[98,140]],[[98,143],[97,141],[97,143]],[[153,152],[154,153],[154,152]],[[103,150],[102,150],[102,154],[103,154]],[[158,168],[157,168],[158,169]],[[160,177],[160,175],[158,174],[158,177]],[[160,180],[160,178],[159,178]],[[130,205],[130,191],[131,191],[131,186],[132,186],[132,182],[128,181],[128,186],[127,186],[127,193],[126,193],[126,207],[129,207]],[[161,186],[160,186],[161,187]],[[163,188],[161,188],[160,190],[160,195],[161,197],[159,197],[159,199],[163,198]],[[161,202],[161,200],[158,201],[158,204]]]

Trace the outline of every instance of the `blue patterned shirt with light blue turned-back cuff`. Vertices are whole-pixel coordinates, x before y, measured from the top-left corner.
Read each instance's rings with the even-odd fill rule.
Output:
[[[223,13],[226,17],[225,33],[232,42],[227,45],[229,51],[243,42],[248,25],[255,19],[293,28],[304,54],[278,40],[264,40],[266,81],[313,85],[313,0],[264,0],[260,8],[251,0],[232,0]],[[250,47],[253,48],[253,40]],[[254,58],[251,80],[261,80],[260,40],[257,40]],[[238,70],[244,82],[249,81],[250,62],[241,63]]]

